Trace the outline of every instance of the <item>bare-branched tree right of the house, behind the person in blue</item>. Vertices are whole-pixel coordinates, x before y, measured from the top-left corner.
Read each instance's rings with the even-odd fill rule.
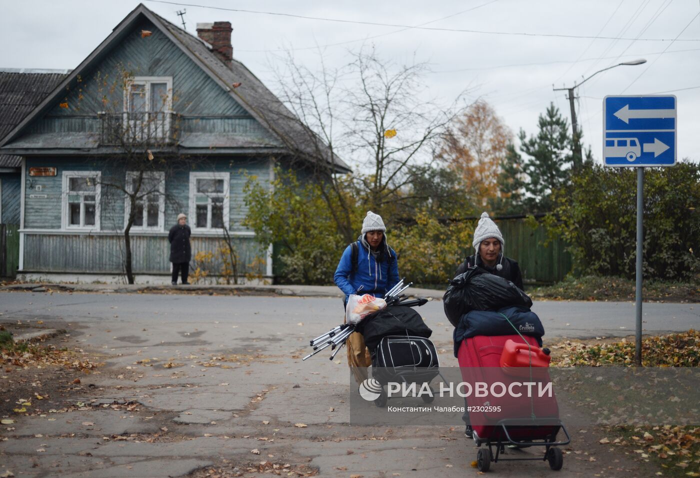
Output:
[[[288,125],[279,131],[282,141],[323,185],[337,230],[351,241],[358,206],[381,211],[410,199],[403,190],[414,166],[432,160],[436,141],[465,108],[465,94],[447,107],[423,99],[427,64],[394,64],[374,49],[352,53],[339,68],[319,58],[317,70],[290,52],[281,67],[273,65],[283,104],[271,101],[260,113],[269,125]],[[341,157],[359,165],[356,174],[338,173]]]

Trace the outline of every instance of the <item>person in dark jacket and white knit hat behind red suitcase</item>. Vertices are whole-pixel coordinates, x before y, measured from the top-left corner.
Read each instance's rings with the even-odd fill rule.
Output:
[[[465,272],[468,267],[478,265],[491,272],[491,274],[511,281],[522,289],[523,277],[520,273],[520,267],[518,267],[517,262],[503,255],[504,245],[503,234],[500,234],[500,229],[498,229],[496,223],[489,218],[488,213],[482,213],[479,224],[477,224],[474,230],[474,240],[472,241],[475,253],[466,258],[464,262],[457,267],[457,271],[454,275],[458,276]],[[462,420],[466,423],[464,435],[467,438],[471,438],[472,426],[470,424],[469,412],[466,411],[467,406],[467,399],[465,398],[465,412],[462,416]]]

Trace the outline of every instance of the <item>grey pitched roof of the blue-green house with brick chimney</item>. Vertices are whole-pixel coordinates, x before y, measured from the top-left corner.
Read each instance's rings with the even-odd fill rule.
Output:
[[[160,29],[165,36],[181,48],[195,64],[200,66],[215,83],[228,92],[255,120],[258,120],[263,127],[267,128],[276,138],[279,138],[286,150],[311,161],[322,161],[330,164],[332,169],[337,172],[351,171],[350,167],[332,153],[332,150],[328,148],[325,142],[303,125],[244,64],[233,59],[231,66],[228,66],[211,51],[209,48],[211,45],[165,20],[160,15],[153,13],[142,3],[137,8],[134,8],[76,69],[67,75],[59,85],[55,86],[52,94],[49,94],[41,104],[35,105],[36,107],[27,118],[22,120],[19,125],[10,128],[10,132],[0,134],[0,138],[4,136],[0,141],[0,147],[17,139],[25,126],[29,125],[32,120],[38,118],[39,115],[47,111],[55,103],[66,85],[69,85],[79,73],[85,71],[93,62],[102,57],[104,50],[108,49],[112,43],[118,42],[141,16],[153,22],[155,27]],[[234,83],[241,83],[241,85],[234,87]]]

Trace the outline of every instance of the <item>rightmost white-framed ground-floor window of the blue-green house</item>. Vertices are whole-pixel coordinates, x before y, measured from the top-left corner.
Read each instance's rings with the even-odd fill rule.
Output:
[[[229,225],[228,173],[190,173],[190,224],[195,230]]]

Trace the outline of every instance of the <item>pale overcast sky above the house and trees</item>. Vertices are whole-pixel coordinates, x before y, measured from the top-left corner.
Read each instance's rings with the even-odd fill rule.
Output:
[[[193,6],[195,3],[199,6]],[[553,84],[571,87],[607,66],[645,58],[646,64],[605,71],[577,89],[584,145],[593,148],[600,162],[601,109],[606,94],[669,92],[678,97],[678,159],[700,160],[700,0],[199,0],[188,6],[144,4],[176,24],[180,24],[176,10],[186,9],[186,28],[194,34],[197,22],[230,21],[234,56],[273,89],[269,65],[275,50],[293,48],[297,60],[314,69],[316,45],[328,45],[325,52],[342,63],[347,60],[347,50],[374,44],[379,55],[396,62],[409,62],[414,55],[429,62],[433,72],[426,77],[430,88],[426,94],[449,101],[470,86],[472,96],[489,101],[513,132],[523,128],[528,134],[537,131],[538,115],[550,101],[570,120],[566,92],[552,91]],[[0,68],[73,69],[137,5],[129,0],[0,0]]]

